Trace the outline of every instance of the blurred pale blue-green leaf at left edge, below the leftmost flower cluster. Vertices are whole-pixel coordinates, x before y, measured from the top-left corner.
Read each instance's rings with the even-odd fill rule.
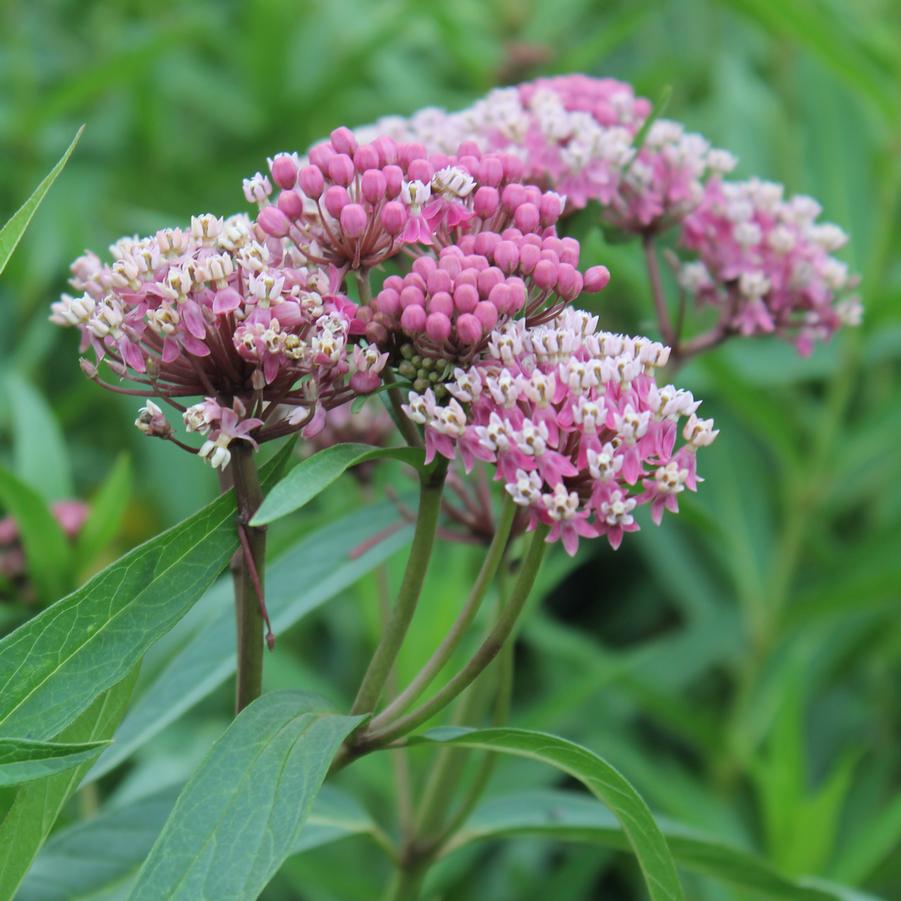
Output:
[[[48,501],[75,496],[69,455],[53,411],[17,373],[6,378],[13,421],[16,475]]]

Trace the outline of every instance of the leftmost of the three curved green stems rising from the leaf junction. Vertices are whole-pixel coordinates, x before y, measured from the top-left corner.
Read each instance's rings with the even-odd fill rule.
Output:
[[[441,511],[441,493],[446,476],[446,460],[438,460],[420,476],[419,511],[416,514],[416,530],[413,534],[407,569],[404,572],[394,610],[391,612],[388,623],[382,632],[381,641],[360,684],[360,690],[357,692],[351,713],[370,713],[375,709],[385,688],[385,683],[388,681],[391,668],[394,666],[394,661],[397,659],[404,636],[410,628],[429,559],[432,556],[435,531],[438,528],[438,515]]]

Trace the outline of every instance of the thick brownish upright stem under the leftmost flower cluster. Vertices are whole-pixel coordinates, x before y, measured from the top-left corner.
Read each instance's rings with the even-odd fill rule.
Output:
[[[238,650],[235,713],[240,713],[263,690],[263,600],[258,592],[262,591],[263,585],[266,529],[248,525],[263,502],[253,449],[244,441],[235,441],[231,452],[230,470],[238,507],[237,528],[246,536],[246,544],[242,541],[232,561]]]

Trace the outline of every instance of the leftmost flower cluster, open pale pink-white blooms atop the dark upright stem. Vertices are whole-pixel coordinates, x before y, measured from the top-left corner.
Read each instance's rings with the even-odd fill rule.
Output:
[[[95,357],[82,368],[104,387],[180,410],[176,398],[207,397],[205,426],[194,407],[186,422],[209,433],[199,453],[212,465],[227,464],[234,440],[309,434],[326,409],[378,387],[386,358],[358,348],[351,357],[362,323],[336,274],[298,265],[247,217],[197,216],[188,230],[123,239],[111,251],[111,265],[93,254],[75,262],[72,284],[84,293],[64,295],[51,320],[79,329]],[[130,385],[101,381],[101,363]],[[155,404],[136,425],[172,438]]]

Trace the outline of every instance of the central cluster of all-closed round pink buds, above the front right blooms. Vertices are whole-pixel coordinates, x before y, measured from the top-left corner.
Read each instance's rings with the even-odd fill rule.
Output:
[[[511,228],[503,234],[464,235],[433,257],[420,257],[406,276],[385,280],[371,307],[361,310],[369,340],[392,349],[400,336],[415,351],[466,363],[490,333],[514,316],[540,321],[583,292],[609,280],[603,266],[578,270],[579,242]]]

